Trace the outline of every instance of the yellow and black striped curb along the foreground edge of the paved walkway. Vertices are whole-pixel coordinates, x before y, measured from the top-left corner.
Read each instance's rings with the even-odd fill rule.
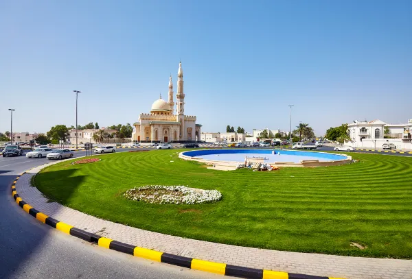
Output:
[[[21,175],[23,174],[24,173],[21,173]],[[208,260],[198,260],[196,258],[187,258],[184,256],[177,256],[165,252],[149,250],[143,247],[137,247],[135,245],[108,239],[91,232],[86,232],[84,230],[74,228],[67,223],[63,223],[52,217],[49,217],[30,206],[30,204],[25,203],[16,192],[16,183],[17,180],[21,178],[21,175],[17,176],[16,180],[14,180],[14,182],[12,183],[12,195],[14,200],[16,201],[16,204],[19,204],[19,206],[23,208],[26,213],[29,213],[34,218],[38,219],[38,221],[56,228],[57,230],[65,232],[66,234],[70,234],[71,236],[76,236],[84,241],[96,243],[99,246],[105,247],[107,249],[116,250],[118,252],[126,253],[132,256],[138,256],[140,258],[146,258],[148,260],[154,260],[160,263],[168,263],[170,265],[178,265],[179,267],[187,267],[190,269],[197,269],[201,271],[222,274],[225,276],[236,276],[252,279],[342,279],[325,276],[292,274],[288,272],[254,269],[249,267],[238,267],[236,265],[227,265],[225,263],[214,263],[209,262]]]

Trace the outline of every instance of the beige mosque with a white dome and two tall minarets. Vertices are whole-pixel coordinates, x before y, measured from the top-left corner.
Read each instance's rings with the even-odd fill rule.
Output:
[[[132,140],[139,143],[179,143],[200,139],[202,125],[196,124],[195,116],[185,115],[182,63],[179,63],[177,72],[176,103],[173,100],[173,83],[170,75],[168,101],[161,99],[160,96],[152,104],[150,113],[141,113],[139,121],[133,125]]]

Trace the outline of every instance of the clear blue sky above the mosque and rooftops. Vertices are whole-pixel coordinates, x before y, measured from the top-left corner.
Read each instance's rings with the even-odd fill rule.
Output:
[[[412,1],[1,1],[0,131],[134,123],[181,59],[185,114],[317,134],[412,119]],[[176,99],[175,99],[176,101]]]

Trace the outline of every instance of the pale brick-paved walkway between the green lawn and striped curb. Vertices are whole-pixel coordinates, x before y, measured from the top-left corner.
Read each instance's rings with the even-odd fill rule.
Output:
[[[183,239],[98,219],[56,202],[47,202],[47,198],[40,191],[30,186],[32,176],[43,167],[32,169],[17,181],[16,190],[19,196],[27,204],[50,217],[116,241],[179,256],[257,269],[347,279],[412,278],[412,260],[358,258],[240,247]]]

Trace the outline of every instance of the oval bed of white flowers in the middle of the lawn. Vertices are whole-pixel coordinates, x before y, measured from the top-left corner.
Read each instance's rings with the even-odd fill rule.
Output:
[[[150,204],[206,204],[217,202],[222,194],[217,190],[201,190],[186,186],[147,185],[124,193],[127,199]]]

